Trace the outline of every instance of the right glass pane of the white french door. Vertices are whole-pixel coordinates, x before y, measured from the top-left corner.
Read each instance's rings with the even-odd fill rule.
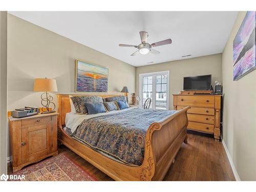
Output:
[[[156,76],[156,109],[167,110],[167,75]]]

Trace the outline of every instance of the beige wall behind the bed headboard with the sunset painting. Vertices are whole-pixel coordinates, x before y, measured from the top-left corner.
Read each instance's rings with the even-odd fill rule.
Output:
[[[74,93],[75,59],[108,68],[109,93],[135,92],[135,67],[8,14],[8,110],[40,106],[34,78],[55,78],[58,93]]]

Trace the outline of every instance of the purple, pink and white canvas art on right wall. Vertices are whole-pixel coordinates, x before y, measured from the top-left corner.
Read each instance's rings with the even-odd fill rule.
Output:
[[[255,11],[247,11],[233,40],[233,80],[238,80],[256,69]]]

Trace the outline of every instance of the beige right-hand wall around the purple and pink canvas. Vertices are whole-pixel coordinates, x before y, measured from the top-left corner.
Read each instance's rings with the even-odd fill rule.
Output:
[[[238,14],[222,55],[223,140],[241,180],[256,180],[256,70],[233,81],[233,39],[246,12]]]

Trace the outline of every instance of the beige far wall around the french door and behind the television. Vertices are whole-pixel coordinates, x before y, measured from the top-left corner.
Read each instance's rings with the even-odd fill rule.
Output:
[[[208,75],[214,81],[221,81],[222,54],[208,55],[184,60],[169,61],[156,65],[136,68],[136,93],[139,92],[139,74],[157,71],[169,71],[169,109],[173,109],[173,95],[183,89],[183,77]]]

